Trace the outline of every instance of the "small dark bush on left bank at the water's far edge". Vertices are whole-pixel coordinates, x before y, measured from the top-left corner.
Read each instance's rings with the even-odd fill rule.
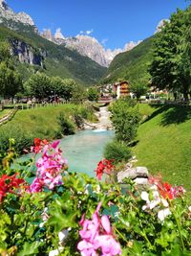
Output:
[[[64,113],[60,112],[57,119],[61,128],[62,134],[64,135],[74,134],[74,123],[68,117],[66,117]]]

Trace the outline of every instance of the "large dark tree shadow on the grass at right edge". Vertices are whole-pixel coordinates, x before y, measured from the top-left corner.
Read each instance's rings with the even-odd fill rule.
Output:
[[[162,115],[160,125],[167,127],[173,124],[179,125],[191,119],[191,107],[171,106]]]

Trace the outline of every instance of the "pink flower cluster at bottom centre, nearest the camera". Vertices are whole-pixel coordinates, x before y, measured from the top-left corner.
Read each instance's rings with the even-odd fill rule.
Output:
[[[77,244],[82,256],[98,255],[101,250],[102,256],[113,256],[121,254],[120,244],[114,238],[109,218],[98,216],[101,203],[96,207],[96,212],[93,214],[92,221],[84,220],[84,215],[80,221],[83,229],[79,231],[82,238]]]

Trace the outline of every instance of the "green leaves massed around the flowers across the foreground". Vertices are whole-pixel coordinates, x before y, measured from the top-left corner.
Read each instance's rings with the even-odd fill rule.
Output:
[[[24,163],[23,167],[25,173],[18,177],[31,175],[31,166]],[[4,172],[9,174],[10,171]],[[109,236],[120,244],[121,255],[190,255],[190,207],[183,197],[162,198],[160,190],[167,183],[159,184],[160,190],[145,187],[143,193],[148,196],[145,200],[132,180],[124,181],[125,192],[118,184],[106,184],[78,173],[64,171],[62,181],[63,184],[53,190],[29,193],[22,187],[22,194],[14,190],[4,195],[0,209],[0,254],[40,256],[58,249],[59,255],[80,255],[77,251],[79,230],[82,230],[83,221],[91,220],[96,212],[96,219],[106,214],[110,217]],[[151,203],[156,206],[149,207]],[[162,221],[159,211],[164,209],[170,213]],[[88,234],[96,230],[96,223],[90,223],[93,223],[91,229],[84,227]],[[97,224],[100,223],[97,221]],[[65,232],[66,236],[60,239],[59,232]]]

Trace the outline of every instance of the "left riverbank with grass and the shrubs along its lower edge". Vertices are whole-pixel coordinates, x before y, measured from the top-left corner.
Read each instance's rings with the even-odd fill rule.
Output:
[[[81,119],[96,122],[92,105],[66,104],[18,110],[14,118],[0,128],[1,151],[9,149],[10,138],[15,140],[16,151],[23,153],[23,149],[30,148],[35,137],[48,140],[63,137],[60,114],[64,114],[76,129],[76,123]]]

